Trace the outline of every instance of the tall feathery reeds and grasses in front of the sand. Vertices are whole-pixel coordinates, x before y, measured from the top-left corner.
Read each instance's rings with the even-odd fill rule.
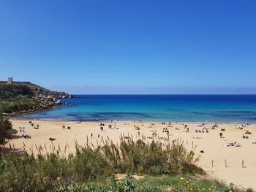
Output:
[[[121,137],[119,145],[110,140],[93,147],[76,145],[76,153],[64,157],[59,149],[42,155],[2,153],[0,157],[0,191],[50,191],[61,185],[90,183],[113,174],[203,174],[195,166],[197,158],[187,151],[183,142],[162,145],[160,142],[134,142]]]

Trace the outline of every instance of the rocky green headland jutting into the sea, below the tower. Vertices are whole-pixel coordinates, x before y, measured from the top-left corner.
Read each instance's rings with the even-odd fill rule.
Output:
[[[72,95],[50,91],[31,82],[0,83],[0,113],[4,115],[50,110],[64,105],[60,98],[72,98]]]

